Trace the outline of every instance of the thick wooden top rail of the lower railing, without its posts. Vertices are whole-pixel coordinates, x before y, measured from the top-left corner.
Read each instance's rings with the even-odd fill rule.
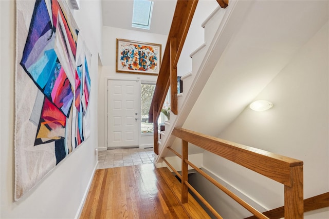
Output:
[[[181,138],[181,140],[188,141],[286,186],[292,186],[294,183],[291,182],[290,167],[303,165],[302,161],[290,157],[236,144],[187,129],[175,128],[172,134]]]

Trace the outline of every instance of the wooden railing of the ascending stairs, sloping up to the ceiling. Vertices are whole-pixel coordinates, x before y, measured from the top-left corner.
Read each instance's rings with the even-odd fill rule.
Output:
[[[222,8],[226,8],[229,0],[216,1]],[[172,88],[177,87],[177,63],[185,43],[197,3],[198,0],[178,0],[176,4],[173,21],[168,34],[165,53],[163,53],[162,63],[149,111],[149,123],[153,123],[154,152],[156,154],[159,154],[157,121],[162,105],[165,103],[169,86]],[[170,110],[177,115],[177,89],[171,89],[170,93]]]

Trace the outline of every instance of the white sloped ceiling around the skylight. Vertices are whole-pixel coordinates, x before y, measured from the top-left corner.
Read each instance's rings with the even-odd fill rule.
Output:
[[[133,0],[103,0],[103,25],[168,35],[176,7],[176,0],[153,0],[153,2],[150,30],[132,27]]]

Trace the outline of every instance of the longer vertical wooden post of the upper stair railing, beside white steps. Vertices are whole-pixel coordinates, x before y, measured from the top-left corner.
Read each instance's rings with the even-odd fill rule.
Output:
[[[177,55],[177,38],[170,38],[170,110],[177,115],[177,68],[174,66],[174,60]]]

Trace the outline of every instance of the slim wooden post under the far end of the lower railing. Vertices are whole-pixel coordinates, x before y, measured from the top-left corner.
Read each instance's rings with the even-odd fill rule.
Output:
[[[188,186],[185,184],[186,181],[188,181],[188,164],[185,160],[188,160],[188,154],[189,154],[189,143],[181,140],[181,203],[187,203],[188,202]]]

